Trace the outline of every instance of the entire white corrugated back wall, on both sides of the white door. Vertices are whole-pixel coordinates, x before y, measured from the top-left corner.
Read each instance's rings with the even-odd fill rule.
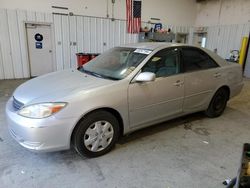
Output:
[[[138,41],[137,34],[126,32],[125,20],[0,9],[0,79],[30,76],[25,22],[52,23],[55,70],[76,67],[77,52],[102,53]],[[174,32],[190,30],[188,26],[167,27]]]

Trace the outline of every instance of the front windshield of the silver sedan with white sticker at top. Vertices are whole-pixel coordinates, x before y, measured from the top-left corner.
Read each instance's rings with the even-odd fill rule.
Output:
[[[128,76],[151,50],[116,47],[84,64],[79,70],[87,74],[112,80]]]

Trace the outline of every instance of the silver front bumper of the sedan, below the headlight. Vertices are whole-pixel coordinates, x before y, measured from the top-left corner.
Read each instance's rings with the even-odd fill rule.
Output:
[[[23,147],[32,151],[58,151],[70,148],[70,137],[76,119],[30,119],[17,114],[12,106],[13,99],[6,105],[6,117],[11,136]]]

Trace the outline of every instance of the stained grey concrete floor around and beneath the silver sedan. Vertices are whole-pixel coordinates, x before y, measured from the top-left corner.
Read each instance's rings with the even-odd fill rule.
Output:
[[[0,81],[0,187],[224,187],[250,142],[250,80],[225,113],[192,114],[123,138],[109,154],[82,159],[74,151],[35,154],[8,134],[4,108],[24,80]]]

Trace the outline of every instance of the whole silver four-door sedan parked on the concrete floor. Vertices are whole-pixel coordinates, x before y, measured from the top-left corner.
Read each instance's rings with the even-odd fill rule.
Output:
[[[242,70],[182,44],[115,47],[79,70],[27,81],[6,105],[10,134],[32,151],[109,152],[120,136],[204,111],[220,116],[242,89]]]

